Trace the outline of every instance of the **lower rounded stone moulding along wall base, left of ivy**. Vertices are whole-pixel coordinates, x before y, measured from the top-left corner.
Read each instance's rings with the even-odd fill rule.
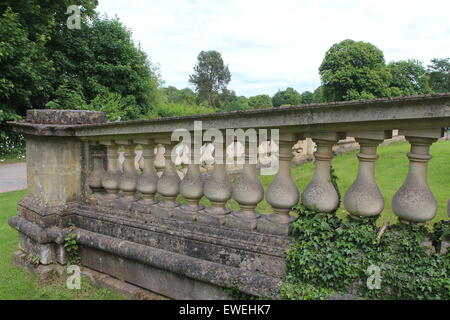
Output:
[[[138,276],[135,272],[130,272],[130,268],[135,269],[135,271],[142,271],[142,268],[139,266],[135,266],[135,268],[131,265],[123,266],[125,261],[130,261],[165,273],[169,272],[178,277],[181,276],[181,279],[188,278],[194,280],[196,283],[215,286],[217,288],[228,288],[233,286],[233,284],[237,284],[237,287],[242,292],[262,297],[276,296],[282,283],[282,280],[279,278],[269,277],[258,272],[241,270],[210,261],[196,259],[83,229],[77,229],[77,241],[82,248],[87,247],[99,251],[97,253],[94,251],[90,255],[94,260],[100,259],[99,261],[101,261],[101,263],[99,267],[112,267],[111,263],[104,263],[104,259],[100,257],[101,252],[108,254],[112,260],[117,262],[115,268],[119,270],[116,270],[115,272],[122,275],[124,279],[127,279],[127,277]],[[86,264],[86,259],[88,259],[89,254],[84,253],[82,250],[81,256],[83,264]],[[105,259],[106,258],[107,257],[105,257]],[[89,266],[89,262],[87,265]],[[120,270],[121,267],[123,268],[122,270]],[[113,270],[109,270],[107,273],[112,274]],[[139,274],[139,272],[137,272],[137,274]],[[188,293],[189,292],[187,291],[183,292],[183,294]],[[167,295],[168,293],[164,294]],[[225,294],[222,294],[222,296],[225,296]],[[174,296],[174,298],[182,297]],[[202,298],[205,299],[207,296],[203,294]]]

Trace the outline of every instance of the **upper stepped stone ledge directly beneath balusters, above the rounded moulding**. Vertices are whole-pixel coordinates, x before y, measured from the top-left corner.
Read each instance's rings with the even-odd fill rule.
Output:
[[[284,247],[276,247],[270,239],[261,237],[237,239],[236,233],[209,228],[208,230],[188,230],[180,227],[166,229],[156,222],[140,219],[115,219],[100,212],[74,215],[78,228],[100,233],[118,240],[127,240],[149,248],[170,251],[209,262],[254,271],[271,277],[285,275]],[[220,233],[220,234],[219,234]]]

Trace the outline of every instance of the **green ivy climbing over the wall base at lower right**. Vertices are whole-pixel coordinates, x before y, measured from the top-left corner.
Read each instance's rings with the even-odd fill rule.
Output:
[[[333,184],[336,177],[333,176]],[[299,205],[293,245],[287,251],[285,299],[328,299],[352,294],[362,299],[450,299],[450,254],[440,254],[449,221],[433,230],[416,224],[389,226],[378,238],[376,218],[343,221]],[[431,239],[432,245],[424,242]],[[380,268],[381,286],[367,286],[369,266]]]

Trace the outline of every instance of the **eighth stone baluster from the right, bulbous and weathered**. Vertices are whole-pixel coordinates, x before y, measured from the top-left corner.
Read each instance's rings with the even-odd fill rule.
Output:
[[[158,180],[157,191],[163,196],[164,201],[158,205],[163,208],[174,208],[178,206],[175,201],[180,192],[180,177],[178,176],[175,164],[172,161],[172,149],[175,147],[176,142],[172,142],[169,139],[160,140],[160,143],[164,145],[164,162],[165,168]]]

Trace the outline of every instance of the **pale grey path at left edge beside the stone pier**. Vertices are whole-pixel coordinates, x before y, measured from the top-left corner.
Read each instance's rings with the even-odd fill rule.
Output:
[[[27,163],[17,162],[0,165],[0,192],[27,188]]]

